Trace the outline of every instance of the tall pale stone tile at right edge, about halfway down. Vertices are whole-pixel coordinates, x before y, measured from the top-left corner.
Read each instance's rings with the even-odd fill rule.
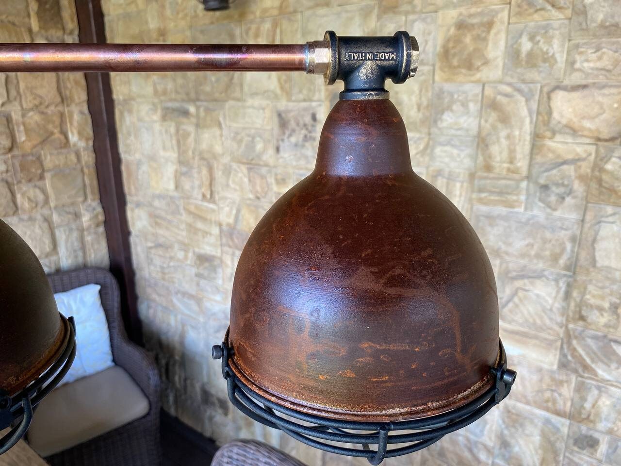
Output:
[[[621,280],[621,208],[587,204],[576,272]]]

